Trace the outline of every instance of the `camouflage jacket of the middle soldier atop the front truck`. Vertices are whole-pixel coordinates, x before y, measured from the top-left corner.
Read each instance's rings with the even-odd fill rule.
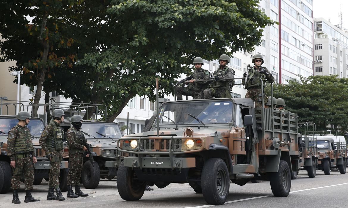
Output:
[[[235,71],[228,66],[221,69],[215,70],[213,73],[214,77],[219,76],[220,79],[226,79],[226,78],[234,78],[235,77]],[[234,80],[219,80],[219,81],[213,81],[210,83],[209,87],[213,88],[225,88],[226,90],[230,91],[233,87]]]

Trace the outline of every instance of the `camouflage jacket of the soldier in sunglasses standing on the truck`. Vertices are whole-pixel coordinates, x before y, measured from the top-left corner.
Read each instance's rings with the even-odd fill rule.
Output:
[[[265,81],[267,80],[269,83],[273,83],[274,82],[274,77],[272,76],[272,74],[268,71],[268,69],[266,67],[261,66],[261,68],[265,69],[266,72],[265,73],[260,73],[257,68],[251,67],[249,69],[249,71],[247,72],[249,74],[249,77],[260,77],[262,79],[263,82],[263,87],[266,87],[266,83]],[[245,77],[245,76],[243,76]],[[245,83],[245,80],[242,81],[243,85]],[[254,78],[254,79],[250,79],[248,81],[248,83],[246,83],[245,89],[250,89],[250,88],[259,88],[261,87],[261,81],[258,78]]]

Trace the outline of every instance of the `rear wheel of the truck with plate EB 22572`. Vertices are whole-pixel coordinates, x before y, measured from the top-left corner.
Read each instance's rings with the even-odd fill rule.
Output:
[[[287,162],[280,160],[278,173],[271,173],[271,190],[275,197],[287,197],[291,188],[290,168]]]

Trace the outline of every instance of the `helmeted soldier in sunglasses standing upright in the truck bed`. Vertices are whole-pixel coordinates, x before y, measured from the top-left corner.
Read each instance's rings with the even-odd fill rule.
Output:
[[[269,83],[274,82],[274,77],[272,74],[268,71],[268,69],[264,66],[261,66],[263,64],[263,58],[261,54],[255,54],[253,56],[253,61],[252,63],[255,65],[249,69],[249,71],[244,72],[243,77],[246,77],[248,74],[248,77],[259,77],[262,79],[263,82],[263,87],[266,87],[265,79]],[[245,97],[249,97],[253,99],[255,102],[255,107],[262,107],[262,92],[261,92],[261,81],[258,78],[255,79],[249,79],[246,80],[247,83],[245,85],[245,89],[248,91],[246,92]],[[245,83],[245,80],[243,80],[243,85]],[[263,101],[266,103],[267,102],[267,96],[265,95],[263,98]]]

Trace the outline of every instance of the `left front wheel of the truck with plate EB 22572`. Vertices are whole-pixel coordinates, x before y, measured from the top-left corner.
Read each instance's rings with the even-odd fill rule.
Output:
[[[133,168],[124,166],[123,161],[117,170],[117,190],[120,197],[126,201],[136,201],[143,197],[145,182],[136,178]]]

